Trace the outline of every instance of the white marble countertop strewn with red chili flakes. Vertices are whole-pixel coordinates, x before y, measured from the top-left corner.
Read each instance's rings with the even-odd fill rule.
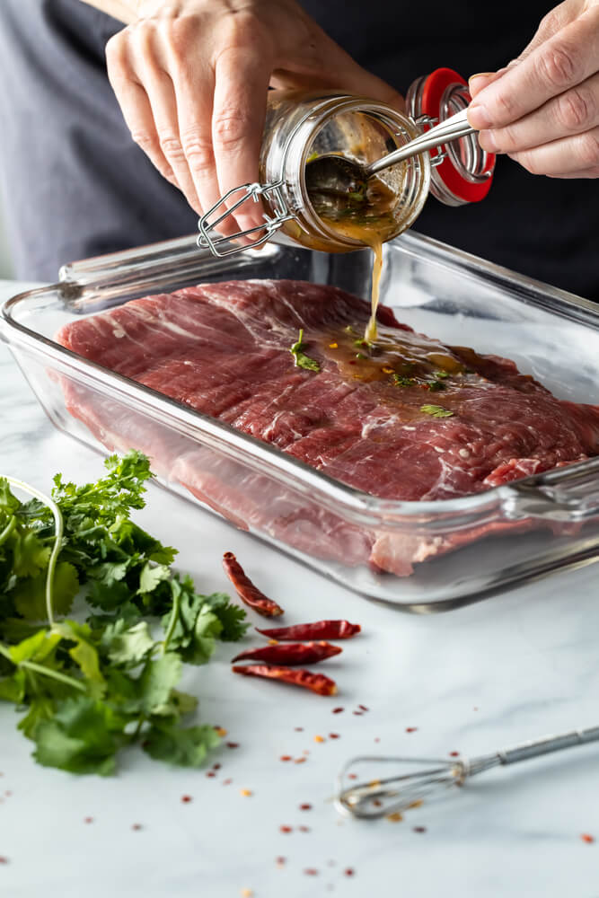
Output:
[[[11,291],[5,284],[0,300]],[[40,489],[55,471],[100,475],[99,456],[50,426],[2,344],[0,420],[0,472]],[[200,697],[201,719],[239,743],[215,753],[214,779],[141,753],[125,756],[111,779],[40,768],[13,707],[0,706],[2,896],[599,895],[599,745],[492,770],[401,823],[341,821],[329,800],[341,764],[357,753],[475,755],[599,723],[599,566],[416,617],[331,585],[160,489],[140,517],[181,549],[180,568],[204,590],[227,588],[219,559],[230,549],[289,622],[347,617],[364,633],[327,662],[339,682],[332,700],[234,677],[231,647],[189,668],[185,686]],[[357,717],[360,702],[369,711]],[[346,710],[331,714],[335,706]],[[304,749],[302,764],[279,761]],[[183,794],[193,800],[182,804]],[[313,808],[300,810],[304,802]],[[279,832],[281,824],[294,831]],[[586,832],[597,841],[583,841]]]

